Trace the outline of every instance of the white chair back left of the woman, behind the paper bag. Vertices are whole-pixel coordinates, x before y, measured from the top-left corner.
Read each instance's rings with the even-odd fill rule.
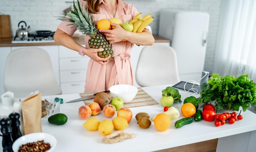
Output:
[[[4,91],[25,98],[39,91],[42,96],[61,95],[49,54],[41,48],[18,48],[8,55],[4,71]]]

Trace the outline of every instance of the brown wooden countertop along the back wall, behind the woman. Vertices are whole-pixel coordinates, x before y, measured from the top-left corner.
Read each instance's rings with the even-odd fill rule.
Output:
[[[171,40],[168,40],[164,37],[153,35],[155,38],[155,42],[170,42]],[[73,37],[74,40],[79,44],[85,44],[84,36],[79,37]],[[7,47],[7,46],[49,46],[49,45],[59,45],[56,42],[40,42],[40,43],[11,43],[13,40],[13,37],[9,38],[0,38],[0,47]]]

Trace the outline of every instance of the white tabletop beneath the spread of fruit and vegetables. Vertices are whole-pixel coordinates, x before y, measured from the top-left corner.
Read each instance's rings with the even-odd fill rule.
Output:
[[[142,89],[159,102],[162,97],[162,90],[166,88],[166,86],[171,85],[144,87]],[[191,96],[184,91],[180,91],[180,94],[182,101],[187,96]],[[236,121],[234,124],[226,123],[224,126],[216,127],[214,126],[214,121],[207,122],[202,120],[200,122],[194,121],[189,125],[177,129],[174,123],[178,119],[183,118],[181,114],[178,119],[172,121],[171,127],[168,130],[159,132],[154,127],[153,122],[148,129],[139,128],[135,115],[138,112],[147,112],[150,117],[153,117],[163,112],[163,106],[161,104],[131,108],[133,118],[128,128],[124,131],[134,133],[136,137],[118,143],[106,144],[101,142],[104,136],[98,131],[88,131],[83,128],[83,123],[86,120],[82,120],[78,117],[78,109],[83,105],[82,101],[65,104],[67,101],[79,98],[79,94],[56,95],[56,97],[63,98],[64,104],[61,104],[60,112],[67,115],[67,123],[63,126],[57,126],[49,123],[47,116],[42,118],[43,132],[52,134],[57,139],[55,152],[148,152],[217,138],[219,139],[217,152],[254,152],[256,150],[256,114],[249,110],[242,112],[241,115],[243,115],[243,119]],[[46,97],[42,97],[42,99],[45,98]],[[182,103],[175,103],[173,106],[178,106],[180,109]],[[218,111],[218,113],[222,112],[224,111]],[[104,117],[102,112],[97,116],[91,117],[97,117],[99,120],[112,120],[113,118]],[[0,138],[0,141],[2,141],[2,138]],[[2,151],[1,148],[0,146],[0,151]]]

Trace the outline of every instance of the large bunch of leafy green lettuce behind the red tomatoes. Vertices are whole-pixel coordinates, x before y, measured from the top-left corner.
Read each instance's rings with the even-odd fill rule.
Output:
[[[208,84],[202,85],[200,103],[215,104],[216,111],[218,108],[239,110],[241,106],[243,111],[256,105],[256,88],[255,83],[248,78],[248,74],[235,78],[226,75],[220,77],[214,73],[208,80]]]

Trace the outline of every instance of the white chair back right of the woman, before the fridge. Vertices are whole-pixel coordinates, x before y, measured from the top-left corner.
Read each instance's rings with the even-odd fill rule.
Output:
[[[142,48],[135,79],[137,84],[142,87],[180,82],[174,49],[162,44]]]

